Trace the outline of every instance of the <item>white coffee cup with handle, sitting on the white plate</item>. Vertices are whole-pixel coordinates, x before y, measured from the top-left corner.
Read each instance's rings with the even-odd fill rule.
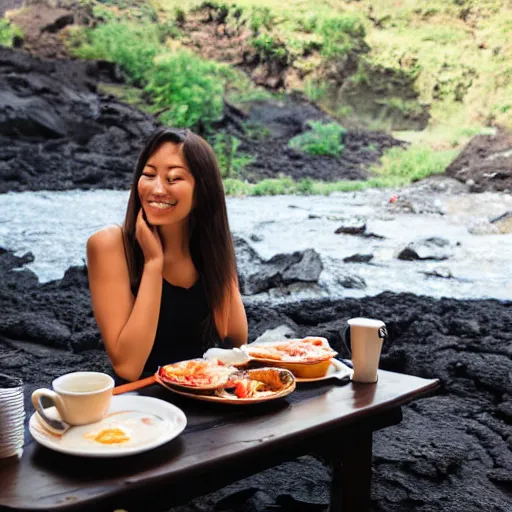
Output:
[[[53,431],[62,431],[69,425],[85,425],[103,419],[112,400],[114,379],[101,372],[73,372],[57,377],[53,391],[46,388],[32,393],[32,404]],[[51,400],[60,416],[50,417],[41,404],[41,398]]]

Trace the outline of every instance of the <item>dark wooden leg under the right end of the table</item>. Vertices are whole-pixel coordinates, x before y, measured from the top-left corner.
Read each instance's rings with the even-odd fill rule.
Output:
[[[369,512],[371,479],[372,431],[351,430],[333,461],[329,512]]]

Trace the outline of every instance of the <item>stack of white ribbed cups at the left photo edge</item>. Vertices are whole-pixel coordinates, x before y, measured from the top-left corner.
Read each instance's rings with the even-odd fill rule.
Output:
[[[21,454],[24,420],[22,381],[0,374],[0,459]]]

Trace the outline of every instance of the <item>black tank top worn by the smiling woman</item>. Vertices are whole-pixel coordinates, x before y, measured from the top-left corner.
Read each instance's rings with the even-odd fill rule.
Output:
[[[219,344],[201,278],[191,288],[163,279],[155,341],[140,378],[153,375],[159,366],[202,357],[208,348]],[[124,382],[116,378],[117,385]]]

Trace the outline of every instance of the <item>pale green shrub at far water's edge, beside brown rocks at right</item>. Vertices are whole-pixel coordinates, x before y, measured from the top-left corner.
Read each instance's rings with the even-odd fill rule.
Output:
[[[393,147],[381,158],[380,167],[373,170],[393,185],[407,185],[433,174],[441,174],[457,152],[434,151],[425,146]]]

